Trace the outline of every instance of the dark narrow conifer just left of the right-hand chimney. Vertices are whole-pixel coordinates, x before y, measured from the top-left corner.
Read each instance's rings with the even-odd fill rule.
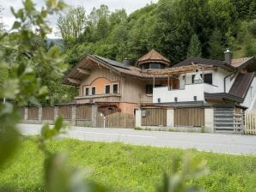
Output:
[[[223,59],[222,34],[219,30],[215,30],[209,39],[209,53],[212,59]]]

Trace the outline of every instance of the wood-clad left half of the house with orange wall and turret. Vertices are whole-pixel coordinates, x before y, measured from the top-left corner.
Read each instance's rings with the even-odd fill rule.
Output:
[[[138,107],[153,105],[153,84],[168,85],[166,75],[151,75],[149,71],[169,65],[169,60],[154,50],[138,59],[138,68],[127,59],[119,63],[89,55],[70,70],[63,82],[79,88],[77,104],[97,105],[106,116],[116,111],[134,115]]]

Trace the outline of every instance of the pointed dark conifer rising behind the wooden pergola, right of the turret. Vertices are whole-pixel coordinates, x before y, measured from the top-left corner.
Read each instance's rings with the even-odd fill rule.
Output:
[[[188,46],[186,57],[201,57],[202,47],[197,34],[193,34]]]

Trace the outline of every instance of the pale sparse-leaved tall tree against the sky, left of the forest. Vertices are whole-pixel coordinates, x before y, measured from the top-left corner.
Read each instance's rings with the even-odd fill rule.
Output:
[[[77,41],[87,25],[86,12],[82,6],[70,8],[65,15],[58,17],[58,29],[65,43]]]

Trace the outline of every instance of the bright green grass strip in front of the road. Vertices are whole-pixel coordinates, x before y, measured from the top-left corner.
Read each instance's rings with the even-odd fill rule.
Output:
[[[113,191],[154,191],[163,171],[170,170],[174,155],[179,159],[189,150],[137,147],[121,143],[101,143],[64,139],[51,141],[52,151],[70,154],[70,165],[90,167],[90,177]],[[191,150],[190,150],[191,151]],[[193,183],[206,191],[256,191],[256,157],[203,153],[210,174]],[[0,186],[19,191],[43,191],[43,154],[34,141],[23,141],[19,153],[0,171]]]

